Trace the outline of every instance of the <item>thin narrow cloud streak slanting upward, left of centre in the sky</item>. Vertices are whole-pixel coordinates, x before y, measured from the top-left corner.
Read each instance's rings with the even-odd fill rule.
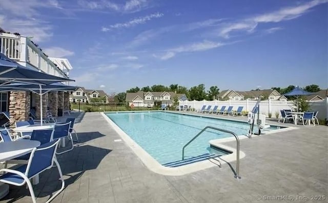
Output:
[[[151,15],[146,15],[144,17],[137,17],[137,18],[131,19],[131,21],[128,21],[125,23],[117,23],[114,25],[110,25],[109,27],[102,27],[101,31],[107,32],[107,31],[110,31],[110,30],[116,29],[116,28],[129,28],[129,27],[133,27],[133,26],[136,26],[139,24],[145,24],[147,21],[150,21],[152,18],[159,18],[162,16],[163,16],[162,13],[154,13]]]

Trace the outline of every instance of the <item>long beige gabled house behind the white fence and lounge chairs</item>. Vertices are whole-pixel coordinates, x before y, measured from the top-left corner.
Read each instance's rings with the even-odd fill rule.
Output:
[[[252,90],[252,91],[235,91],[235,90],[223,90],[219,93],[219,100],[244,100],[244,99],[257,100],[272,99],[272,100],[287,100],[287,98],[281,95],[277,90]]]

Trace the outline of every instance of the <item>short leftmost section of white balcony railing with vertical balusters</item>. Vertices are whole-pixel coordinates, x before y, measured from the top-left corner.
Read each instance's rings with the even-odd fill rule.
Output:
[[[0,33],[0,51],[12,59],[20,59],[20,39],[16,35],[3,37]]]

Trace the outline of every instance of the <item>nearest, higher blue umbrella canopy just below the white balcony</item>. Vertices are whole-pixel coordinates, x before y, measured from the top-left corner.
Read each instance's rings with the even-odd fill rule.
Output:
[[[5,83],[28,83],[36,85],[49,85],[57,82],[75,81],[73,79],[57,77],[35,69],[24,67],[0,53],[0,80]]]

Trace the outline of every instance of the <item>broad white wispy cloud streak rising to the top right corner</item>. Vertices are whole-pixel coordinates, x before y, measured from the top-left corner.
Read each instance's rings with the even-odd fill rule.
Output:
[[[229,38],[233,31],[248,31],[252,32],[260,23],[278,23],[297,18],[306,12],[310,11],[315,6],[327,3],[328,0],[313,0],[304,4],[293,7],[281,8],[277,11],[264,13],[253,17],[242,19],[239,22],[226,24],[219,29],[219,36]]]

